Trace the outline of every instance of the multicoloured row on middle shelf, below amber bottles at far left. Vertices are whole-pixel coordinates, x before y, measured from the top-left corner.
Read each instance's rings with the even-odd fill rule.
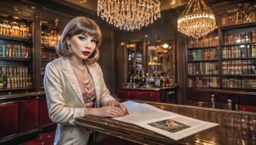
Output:
[[[29,46],[0,44],[0,57],[31,58]]]

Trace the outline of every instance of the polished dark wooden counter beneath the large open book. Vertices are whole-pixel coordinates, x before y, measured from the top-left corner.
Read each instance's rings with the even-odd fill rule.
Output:
[[[144,102],[159,109],[220,125],[174,141],[153,131],[110,118],[77,118],[76,124],[92,130],[94,144],[256,144],[256,113],[159,102],[136,102]]]

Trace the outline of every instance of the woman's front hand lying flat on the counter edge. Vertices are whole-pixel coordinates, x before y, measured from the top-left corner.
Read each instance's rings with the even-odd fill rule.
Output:
[[[100,118],[103,118],[103,117],[116,118],[116,117],[124,116],[124,112],[119,107],[115,107],[115,105],[113,104],[112,106],[93,108],[92,115]]]

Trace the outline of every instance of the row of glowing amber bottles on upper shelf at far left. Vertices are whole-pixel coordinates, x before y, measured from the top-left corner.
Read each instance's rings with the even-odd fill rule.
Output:
[[[3,20],[0,24],[0,34],[31,38],[31,27],[24,22],[11,22],[11,25],[9,25],[7,20]]]

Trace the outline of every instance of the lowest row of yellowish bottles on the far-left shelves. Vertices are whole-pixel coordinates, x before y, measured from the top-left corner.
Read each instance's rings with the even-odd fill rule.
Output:
[[[32,87],[29,67],[0,66],[0,89]]]

